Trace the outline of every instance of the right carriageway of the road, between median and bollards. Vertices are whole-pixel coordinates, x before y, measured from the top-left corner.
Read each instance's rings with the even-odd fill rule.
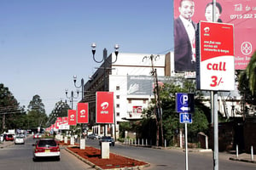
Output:
[[[98,140],[86,140],[86,145],[99,148]],[[110,152],[150,163],[147,170],[184,170],[185,153],[183,150],[160,150],[115,144]],[[219,155],[219,170],[255,170],[256,164],[230,161],[230,156]],[[212,153],[189,152],[189,170],[213,169]]]

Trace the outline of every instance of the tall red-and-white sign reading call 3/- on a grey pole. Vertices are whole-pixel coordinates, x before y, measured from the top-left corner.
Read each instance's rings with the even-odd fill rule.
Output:
[[[196,50],[197,88],[229,91],[235,88],[234,26],[201,21]]]

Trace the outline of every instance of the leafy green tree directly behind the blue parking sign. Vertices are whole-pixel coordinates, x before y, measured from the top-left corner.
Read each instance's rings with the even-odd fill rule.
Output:
[[[188,135],[190,141],[196,138],[197,133],[207,131],[207,113],[210,111],[201,110],[201,92],[195,91],[195,82],[182,77],[174,78],[165,83],[160,88],[160,99],[163,116],[164,138],[168,144],[176,143],[177,133],[183,129],[183,124],[179,123],[179,114],[176,112],[176,93],[195,93],[195,113],[193,113],[193,123],[189,125]],[[151,121],[150,121],[151,120]],[[154,106],[143,111],[143,120],[141,125],[148,127],[154,120]],[[141,127],[140,133],[150,133],[148,128]],[[153,134],[148,134],[154,136]]]

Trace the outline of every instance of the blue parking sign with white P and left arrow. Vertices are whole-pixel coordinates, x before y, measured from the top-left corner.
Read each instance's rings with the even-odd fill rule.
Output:
[[[195,111],[194,94],[176,94],[176,111],[190,113]]]

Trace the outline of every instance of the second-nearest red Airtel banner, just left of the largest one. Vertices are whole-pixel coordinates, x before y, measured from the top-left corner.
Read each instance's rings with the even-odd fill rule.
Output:
[[[78,123],[88,123],[89,114],[88,114],[88,103],[78,103]]]

